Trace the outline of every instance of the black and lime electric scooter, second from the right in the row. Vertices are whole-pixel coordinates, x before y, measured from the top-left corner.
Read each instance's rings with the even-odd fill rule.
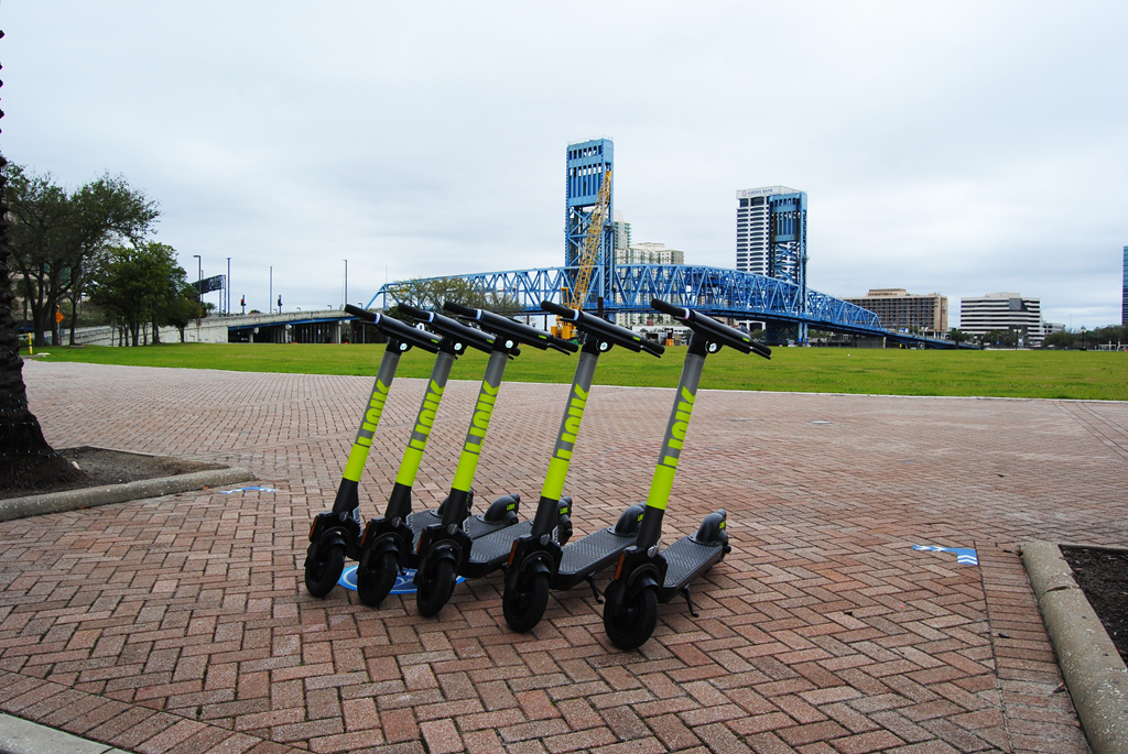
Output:
[[[566,536],[553,536],[553,532],[562,525],[566,532],[571,532],[571,502],[562,506],[561,493],[600,354],[614,346],[635,353],[645,351],[659,357],[666,351],[661,345],[599,317],[559,307],[550,301],[541,301],[540,307],[583,332],[584,345],[575,367],[575,379],[561,420],[556,446],[548,463],[536,517],[529,530],[521,532],[519,536],[514,534],[521,527],[513,526],[475,542],[468,564],[459,571],[461,576],[484,576],[505,567],[502,609],[505,622],[515,631],[529,631],[540,621],[548,605],[549,587],[570,589],[580,582],[588,582],[599,598],[594,575],[610,566],[623,550],[634,544],[643,513],[641,505],[627,508],[615,526],[601,529],[574,542],[566,543]]]

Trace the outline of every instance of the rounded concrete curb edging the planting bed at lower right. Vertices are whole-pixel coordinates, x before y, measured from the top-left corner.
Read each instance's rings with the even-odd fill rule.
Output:
[[[1022,548],[1073,706],[1095,754],[1128,754],[1128,667],[1052,542]]]

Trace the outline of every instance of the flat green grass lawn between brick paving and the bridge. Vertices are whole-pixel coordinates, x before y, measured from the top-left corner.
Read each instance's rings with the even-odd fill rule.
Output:
[[[42,348],[43,361],[217,369],[239,372],[374,375],[384,346],[175,344],[141,348]],[[26,349],[24,351],[26,353]],[[616,348],[600,358],[597,384],[672,388],[685,347],[662,358]],[[37,356],[38,358],[38,356]],[[571,382],[575,356],[532,348],[510,362],[506,379]],[[399,376],[426,376],[434,356],[407,353]],[[458,360],[451,378],[479,380],[486,356]],[[1128,354],[1058,351],[901,351],[776,348],[772,361],[723,349],[708,358],[703,388],[898,396],[997,396],[1128,400]]]

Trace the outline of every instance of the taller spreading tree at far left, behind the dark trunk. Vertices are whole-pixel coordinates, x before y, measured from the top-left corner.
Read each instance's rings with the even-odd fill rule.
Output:
[[[7,165],[3,171],[11,254],[32,309],[36,343],[45,344],[47,328],[58,334],[54,313],[65,299],[73,344],[77,303],[91,261],[111,243],[140,242],[160,214],[157,204],[121,176],[105,175],[70,192],[50,174],[36,176],[18,165]]]

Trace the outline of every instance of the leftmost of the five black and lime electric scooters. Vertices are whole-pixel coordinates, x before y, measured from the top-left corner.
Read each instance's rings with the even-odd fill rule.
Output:
[[[352,305],[346,305],[345,311],[368,320],[388,338],[388,345],[384,349],[384,358],[380,361],[380,369],[372,384],[372,394],[368,399],[360,431],[353,441],[352,450],[349,451],[349,462],[341,477],[333,509],[317,514],[309,527],[306,589],[315,597],[324,597],[333,591],[344,570],[346,555],[353,559],[359,555],[358,544],[362,524],[360,497],[356,490],[364,462],[368,460],[368,451],[372,446],[376,427],[384,413],[384,403],[391,389],[391,380],[399,366],[400,355],[411,351],[413,346],[437,354],[441,346],[438,336],[415,329],[397,319]]]

